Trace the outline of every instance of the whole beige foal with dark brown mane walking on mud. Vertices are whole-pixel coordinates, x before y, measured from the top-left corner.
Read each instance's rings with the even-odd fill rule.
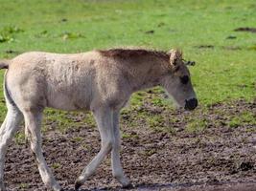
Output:
[[[43,182],[61,190],[41,149],[40,123],[44,108],[92,111],[102,138],[97,156],[76,180],[78,190],[111,152],[113,176],[130,184],[120,162],[119,113],[132,93],[162,86],[180,107],[198,105],[190,73],[179,51],[169,53],[142,49],[112,49],[88,53],[22,53],[0,61],[5,74],[4,94],[8,108],[0,129],[0,190],[4,191],[4,163],[7,147],[25,120],[25,133],[35,154]]]

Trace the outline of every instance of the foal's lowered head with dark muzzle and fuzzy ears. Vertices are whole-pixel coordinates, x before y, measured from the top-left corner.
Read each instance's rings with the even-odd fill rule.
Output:
[[[195,65],[195,62],[182,59],[182,53],[171,50],[168,74],[163,76],[162,86],[172,96],[179,107],[194,110],[198,106],[198,99],[194,92],[191,76],[186,65]]]

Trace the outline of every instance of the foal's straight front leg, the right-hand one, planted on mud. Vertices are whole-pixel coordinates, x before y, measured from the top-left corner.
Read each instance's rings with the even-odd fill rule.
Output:
[[[111,152],[112,161],[112,173],[114,178],[116,178],[124,187],[130,186],[130,181],[124,174],[123,167],[120,161],[120,129],[119,129],[119,111],[113,112],[113,129],[114,129],[114,141],[113,148]]]

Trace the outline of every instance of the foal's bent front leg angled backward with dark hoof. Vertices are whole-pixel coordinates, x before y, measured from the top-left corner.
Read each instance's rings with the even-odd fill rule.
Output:
[[[112,123],[112,111],[109,107],[97,108],[93,115],[96,119],[101,138],[102,147],[97,156],[91,160],[91,162],[84,168],[81,176],[76,180],[75,189],[78,190],[85,180],[88,180],[96,171],[97,167],[105,159],[105,156],[110,153],[113,147],[114,133]]]

